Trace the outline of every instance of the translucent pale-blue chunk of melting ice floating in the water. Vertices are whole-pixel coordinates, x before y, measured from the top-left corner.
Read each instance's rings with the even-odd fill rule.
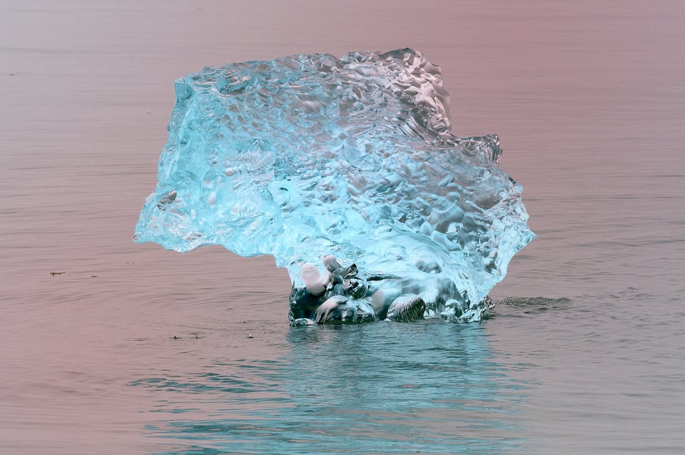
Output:
[[[292,324],[480,320],[534,238],[499,138],[451,133],[417,51],[231,63],[175,87],[134,240],[273,255]]]

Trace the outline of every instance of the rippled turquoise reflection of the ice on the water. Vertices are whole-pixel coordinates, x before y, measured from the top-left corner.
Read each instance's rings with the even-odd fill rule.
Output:
[[[158,394],[160,453],[507,453],[526,384],[482,326],[420,322],[291,329],[277,361],[131,383]],[[172,415],[174,414],[174,415]],[[197,416],[197,418],[193,418]]]

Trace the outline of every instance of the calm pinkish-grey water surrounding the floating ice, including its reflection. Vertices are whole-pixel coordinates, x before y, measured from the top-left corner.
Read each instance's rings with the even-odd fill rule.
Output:
[[[524,186],[495,317],[291,329],[269,257],[133,245],[175,78],[405,46]],[[684,46],[679,0],[3,1],[0,453],[684,453]]]

